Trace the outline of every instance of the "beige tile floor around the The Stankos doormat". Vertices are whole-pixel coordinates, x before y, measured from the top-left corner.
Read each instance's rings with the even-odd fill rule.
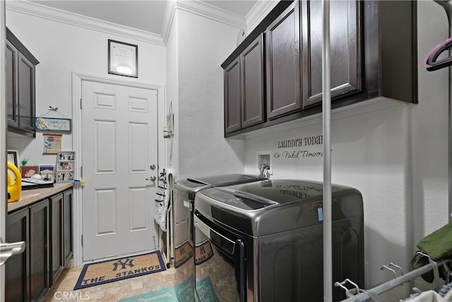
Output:
[[[176,271],[174,267],[170,267],[162,272],[147,274],[141,277],[124,279],[112,283],[102,284],[100,286],[92,286],[86,289],[73,290],[76,281],[83,267],[71,267],[64,269],[52,286],[44,302],[50,301],[72,301],[72,302],[115,302],[123,298],[129,298],[150,291],[165,289],[184,281],[184,277],[188,274],[189,266],[182,265]],[[138,300],[137,300],[138,302]]]

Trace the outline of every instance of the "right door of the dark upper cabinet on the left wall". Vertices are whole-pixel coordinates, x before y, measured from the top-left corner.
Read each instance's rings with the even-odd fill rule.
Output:
[[[19,54],[18,71],[19,127],[35,132],[35,66]]]

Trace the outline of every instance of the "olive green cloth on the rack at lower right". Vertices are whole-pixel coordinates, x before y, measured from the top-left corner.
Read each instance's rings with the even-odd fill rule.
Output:
[[[424,254],[429,255],[430,258],[434,261],[438,260],[446,260],[452,258],[452,221],[439,228],[439,230],[434,231],[428,236],[425,236],[417,243],[417,248]],[[414,269],[419,267],[423,267],[424,265],[429,264],[429,259],[416,253],[411,260],[411,266]],[[446,272],[444,272],[444,268],[441,267],[439,269],[440,277],[444,277]],[[433,272],[428,272],[422,275],[422,278],[432,283],[434,281]]]

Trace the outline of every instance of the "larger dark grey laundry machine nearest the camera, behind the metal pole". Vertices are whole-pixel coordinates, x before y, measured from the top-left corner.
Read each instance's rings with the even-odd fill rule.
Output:
[[[331,207],[331,284],[348,278],[363,288],[362,194],[333,185]],[[202,249],[195,259],[198,301],[323,301],[321,182],[262,180],[201,190],[194,228],[196,250]],[[344,298],[333,288],[333,301]]]

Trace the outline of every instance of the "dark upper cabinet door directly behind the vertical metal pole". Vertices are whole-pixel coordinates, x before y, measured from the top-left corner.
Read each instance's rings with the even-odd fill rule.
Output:
[[[302,1],[304,107],[322,100],[321,1]],[[331,1],[331,98],[362,90],[359,1]]]

